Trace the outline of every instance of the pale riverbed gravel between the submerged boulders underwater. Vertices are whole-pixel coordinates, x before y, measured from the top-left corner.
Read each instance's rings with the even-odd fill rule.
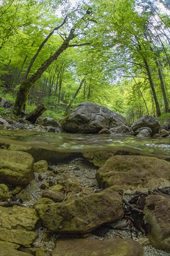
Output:
[[[29,202],[24,203],[27,207],[32,207],[33,203],[36,202],[39,198],[41,198],[42,189],[40,189],[41,185],[44,184],[48,186],[49,182],[52,184],[56,184],[59,182],[59,177],[69,176],[76,178],[82,185],[82,188],[90,187],[92,188],[92,193],[100,191],[98,186],[98,182],[96,180],[96,171],[97,167],[92,163],[89,163],[84,157],[78,156],[76,158],[71,159],[69,162],[59,162],[57,165],[49,166],[48,171],[43,174],[35,173],[35,179],[27,186],[27,190],[31,195],[31,200]],[[52,171],[53,170],[53,171]],[[79,196],[80,192],[77,192],[76,195]],[[129,200],[131,196],[126,196],[125,199]],[[122,219],[117,222],[112,223],[113,227],[118,227],[124,224],[126,220]],[[46,228],[39,228],[39,237],[33,243],[35,247],[39,247],[44,245],[46,249],[48,249],[49,253],[52,252],[52,249],[55,247],[55,241],[59,237],[56,233],[50,234],[50,239],[46,242],[42,241],[43,234],[48,233]],[[123,237],[123,238],[132,238],[139,243],[141,240],[146,240],[146,244],[144,245],[144,256],[170,256],[170,253],[164,252],[163,250],[158,250],[148,244],[148,239],[144,234],[138,232],[138,236],[136,237],[135,232],[130,232],[127,230],[118,230],[118,229],[109,229],[105,235],[96,236],[89,234],[88,239],[107,239],[111,237]]]

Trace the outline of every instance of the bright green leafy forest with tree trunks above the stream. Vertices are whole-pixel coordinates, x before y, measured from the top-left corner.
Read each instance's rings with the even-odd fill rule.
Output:
[[[129,123],[169,113],[168,2],[0,1],[0,96],[16,115],[43,102],[60,119],[83,101]]]

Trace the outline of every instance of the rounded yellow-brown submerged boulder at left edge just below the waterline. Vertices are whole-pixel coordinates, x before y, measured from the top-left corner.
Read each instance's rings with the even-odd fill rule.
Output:
[[[0,181],[29,184],[34,178],[33,164],[33,157],[25,152],[0,149]]]

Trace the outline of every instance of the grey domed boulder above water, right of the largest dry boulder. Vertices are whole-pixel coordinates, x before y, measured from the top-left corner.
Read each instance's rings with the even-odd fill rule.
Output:
[[[149,127],[152,130],[152,135],[159,133],[161,127],[158,119],[152,115],[144,115],[143,117],[137,119],[131,128],[135,132],[138,128]]]

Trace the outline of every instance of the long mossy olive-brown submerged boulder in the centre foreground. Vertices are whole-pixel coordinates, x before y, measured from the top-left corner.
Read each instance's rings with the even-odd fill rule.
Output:
[[[70,201],[35,206],[46,228],[59,233],[89,233],[123,216],[122,197],[112,188]]]

